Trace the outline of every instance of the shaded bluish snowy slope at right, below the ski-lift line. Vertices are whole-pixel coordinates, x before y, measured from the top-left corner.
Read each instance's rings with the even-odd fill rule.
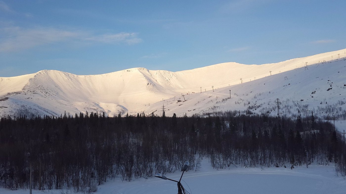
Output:
[[[276,99],[280,113],[293,116],[300,110],[303,116],[311,111],[322,117],[341,115],[346,108],[346,58],[296,68],[242,84],[224,88],[184,93],[148,107],[145,112],[166,115],[176,113],[191,116],[196,113],[212,113],[227,110],[246,110],[253,113],[277,114]],[[182,102],[177,102],[181,100]],[[345,118],[344,118],[345,119]]]

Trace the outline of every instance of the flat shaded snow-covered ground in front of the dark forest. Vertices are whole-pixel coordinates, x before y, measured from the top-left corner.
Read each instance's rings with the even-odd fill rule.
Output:
[[[345,193],[346,179],[338,176],[335,166],[312,164],[289,167],[212,169],[208,159],[201,162],[197,171],[183,175],[182,184],[190,193]],[[167,178],[179,180],[181,173],[166,174]],[[189,188],[190,187],[190,188]],[[190,191],[191,189],[191,191]],[[2,194],[29,193],[29,190],[10,191],[1,188]],[[33,193],[74,193],[73,190],[45,190]],[[98,187],[96,193],[177,193],[175,182],[156,177],[122,182],[120,178]]]

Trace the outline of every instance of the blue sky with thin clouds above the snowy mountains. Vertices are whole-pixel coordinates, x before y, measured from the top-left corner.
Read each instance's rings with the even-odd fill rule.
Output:
[[[0,0],[0,77],[264,64],[346,48],[346,1]]]

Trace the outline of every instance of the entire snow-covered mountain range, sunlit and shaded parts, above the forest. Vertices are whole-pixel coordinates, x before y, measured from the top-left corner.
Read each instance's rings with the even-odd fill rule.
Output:
[[[341,115],[346,110],[345,67],[346,49],[279,63],[230,62],[179,72],[132,68],[75,75],[43,70],[0,78],[0,114],[160,115],[164,105],[169,116],[227,110],[276,115],[279,99],[284,115],[298,109],[305,115],[311,110]]]

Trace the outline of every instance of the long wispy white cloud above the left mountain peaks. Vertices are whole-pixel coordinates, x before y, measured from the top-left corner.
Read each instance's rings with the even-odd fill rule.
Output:
[[[73,41],[136,44],[142,42],[142,39],[137,37],[137,33],[126,32],[93,34],[55,28],[23,29],[9,27],[0,29],[0,52],[13,52],[44,44]]]

